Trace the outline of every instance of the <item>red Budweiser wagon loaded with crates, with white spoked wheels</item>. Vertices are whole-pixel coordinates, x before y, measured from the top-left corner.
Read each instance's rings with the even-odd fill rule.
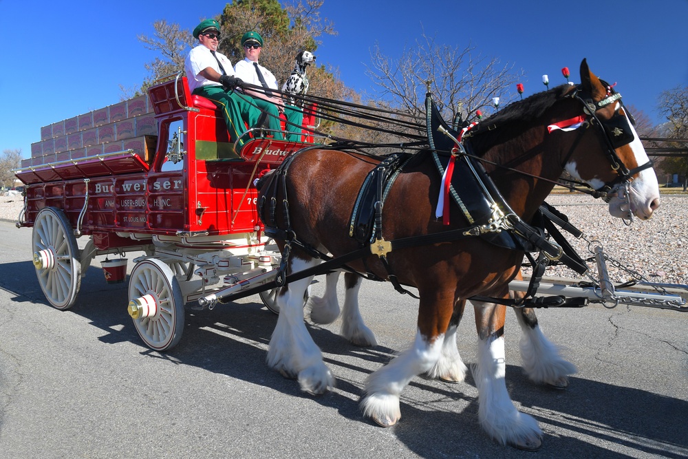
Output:
[[[304,142],[251,129],[238,151],[215,105],[191,95],[180,74],[151,87],[149,100],[120,105],[41,129],[30,164],[15,171],[26,185],[17,226],[33,228],[39,284],[61,310],[74,305],[95,257],[105,255],[106,278],[116,282],[126,269],[118,258],[142,252],[128,310],[144,343],[162,351],[180,341],[187,303],[275,277],[281,257],[266,248],[254,180],[312,142],[313,111],[305,110]],[[146,131],[153,122],[157,130]],[[274,307],[271,291],[259,295]]]

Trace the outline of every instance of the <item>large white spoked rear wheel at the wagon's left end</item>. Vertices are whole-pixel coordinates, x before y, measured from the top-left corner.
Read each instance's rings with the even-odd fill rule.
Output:
[[[63,211],[41,209],[34,222],[31,246],[45,299],[54,308],[71,308],[81,286],[81,261],[72,226]]]

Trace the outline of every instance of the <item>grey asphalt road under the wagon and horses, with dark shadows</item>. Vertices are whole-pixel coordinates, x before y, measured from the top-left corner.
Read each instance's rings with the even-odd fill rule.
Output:
[[[152,352],[127,315],[126,284],[106,284],[98,260],[71,310],[47,306],[30,240],[30,229],[0,222],[3,459],[688,456],[688,314],[682,312],[596,306],[539,312],[544,332],[579,370],[564,391],[524,376],[521,333],[509,312],[508,389],[545,432],[541,450],[526,453],[482,431],[471,376],[455,385],[415,378],[402,395],[402,419],[390,429],[363,418],[358,398],[365,376],[406,348],[415,331],[416,302],[388,284],[367,282],[361,293],[378,347],[350,345],[337,334],[339,322],[310,326],[337,378],[333,392],[312,397],[268,369],[276,317],[257,297],[187,312],[180,344]],[[314,284],[314,292],[322,286]],[[472,362],[477,338],[470,308],[460,332],[462,356]]]

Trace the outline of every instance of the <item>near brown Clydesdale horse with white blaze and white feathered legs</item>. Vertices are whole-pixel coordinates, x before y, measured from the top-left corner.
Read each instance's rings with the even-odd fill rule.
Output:
[[[468,139],[513,213],[530,222],[563,171],[606,190],[609,211],[645,220],[659,206],[654,171],[619,95],[581,63],[581,84],[563,85],[505,107],[489,118],[490,129]],[[583,116],[578,129],[566,120]],[[297,153],[287,171],[272,173],[261,187],[266,226],[286,231],[286,238],[334,257],[352,253],[358,242],[349,237],[350,216],[359,189],[379,160],[352,151],[310,149]],[[498,165],[508,166],[499,167]],[[275,184],[276,180],[283,180]],[[381,234],[385,241],[466,228],[458,206],[451,206],[451,225],[436,218],[440,175],[431,151],[408,162],[389,189]],[[268,203],[277,202],[273,215]],[[283,209],[288,202],[288,212]],[[510,211],[509,211],[510,212]],[[274,218],[273,218],[274,216]],[[279,241],[283,244],[284,241]],[[411,348],[371,374],[361,401],[363,412],[383,426],[400,417],[399,397],[413,376],[429,372],[462,378],[465,366],[455,349],[456,325],[465,299],[475,295],[508,298],[508,283],[519,272],[524,253],[493,245],[480,237],[407,246],[386,254],[385,267],[369,254],[348,265],[358,272],[387,278],[418,289],[418,331]],[[321,261],[310,250],[292,246],[288,273]],[[298,378],[306,392],[319,394],[334,385],[319,348],[303,322],[303,295],[312,276],[292,281],[277,295],[279,318],[270,339],[268,365]],[[497,441],[537,449],[542,432],[534,418],[519,413],[504,381],[504,317],[506,306],[473,301],[478,334],[473,370],[479,392],[480,423]],[[521,317],[524,320],[524,317]]]

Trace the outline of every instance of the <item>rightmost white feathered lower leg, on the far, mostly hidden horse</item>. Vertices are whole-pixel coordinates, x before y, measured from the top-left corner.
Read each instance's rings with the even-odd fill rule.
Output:
[[[529,317],[523,310],[515,312],[523,332],[519,345],[523,368],[528,377],[535,383],[544,383],[560,389],[568,386],[568,376],[577,371],[576,366],[564,360],[559,346],[545,337],[535,314]]]

